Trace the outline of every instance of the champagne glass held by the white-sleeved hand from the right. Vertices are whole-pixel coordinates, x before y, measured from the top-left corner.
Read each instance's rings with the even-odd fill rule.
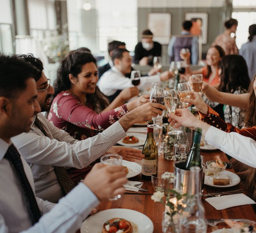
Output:
[[[175,113],[177,108],[177,94],[174,89],[164,91],[164,104],[168,113]],[[169,131],[168,134],[179,134],[180,130],[175,128],[175,124],[173,125],[173,130]]]

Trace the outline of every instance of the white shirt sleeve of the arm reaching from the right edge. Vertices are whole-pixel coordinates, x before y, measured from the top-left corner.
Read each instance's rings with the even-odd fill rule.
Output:
[[[236,132],[224,132],[211,126],[205,140],[240,162],[256,168],[256,141]]]

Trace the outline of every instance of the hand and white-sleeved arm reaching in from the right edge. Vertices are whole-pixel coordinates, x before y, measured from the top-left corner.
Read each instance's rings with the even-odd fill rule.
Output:
[[[224,132],[214,126],[197,119],[187,109],[177,109],[175,114],[168,114],[168,121],[175,120],[175,126],[181,125],[189,128],[199,127],[203,129],[205,140],[223,152],[229,154],[240,162],[256,168],[256,141],[252,138],[242,136],[236,132]],[[174,122],[171,122],[174,124]]]

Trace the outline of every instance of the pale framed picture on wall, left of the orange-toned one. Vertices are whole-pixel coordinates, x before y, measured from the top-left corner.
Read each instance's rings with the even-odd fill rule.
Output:
[[[154,41],[168,45],[171,35],[171,14],[149,13],[148,28],[154,34]]]

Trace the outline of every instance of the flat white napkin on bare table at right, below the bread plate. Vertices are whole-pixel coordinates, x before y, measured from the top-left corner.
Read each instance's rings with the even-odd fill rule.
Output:
[[[256,204],[251,198],[243,193],[231,194],[220,197],[210,197],[205,199],[216,210],[223,210],[233,206]]]

